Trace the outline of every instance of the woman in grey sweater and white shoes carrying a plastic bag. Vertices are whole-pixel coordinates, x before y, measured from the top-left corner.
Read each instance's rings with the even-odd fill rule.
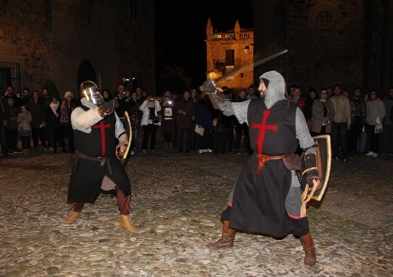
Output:
[[[382,123],[382,119],[386,115],[386,109],[384,102],[378,98],[378,92],[376,90],[371,91],[369,99],[370,101],[367,102],[366,124],[364,126],[364,131],[366,134],[371,134],[371,138],[370,151],[366,155],[378,157],[380,131],[375,133],[375,125],[377,123]]]

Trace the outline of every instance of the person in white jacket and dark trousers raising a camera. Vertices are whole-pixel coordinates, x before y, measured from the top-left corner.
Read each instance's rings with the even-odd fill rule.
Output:
[[[156,145],[156,133],[158,126],[161,125],[157,112],[161,111],[160,102],[149,94],[145,101],[140,105],[139,109],[142,111],[141,126],[143,128],[142,153],[146,153],[147,140],[151,133],[150,152],[154,153],[154,146]]]

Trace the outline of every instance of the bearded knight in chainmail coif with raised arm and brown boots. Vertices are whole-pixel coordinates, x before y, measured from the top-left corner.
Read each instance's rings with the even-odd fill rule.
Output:
[[[250,146],[255,152],[242,169],[228,207],[221,214],[221,238],[206,247],[211,250],[233,247],[236,229],[276,237],[293,231],[305,250],[304,265],[314,266],[316,253],[305,217],[301,185],[290,164],[298,144],[309,155],[316,152],[316,147],[298,105],[285,98],[283,76],[276,71],[264,73],[259,83],[261,98],[239,103],[220,98],[220,89],[212,80],[205,81],[202,87],[209,92],[217,109],[225,115],[234,114],[240,124],[248,124]],[[318,186],[316,167],[312,162],[306,165],[309,168],[307,183],[311,187]]]

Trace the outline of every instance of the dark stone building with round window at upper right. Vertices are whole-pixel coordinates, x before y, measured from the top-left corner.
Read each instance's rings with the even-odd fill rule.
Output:
[[[288,49],[254,68],[255,82],[274,69],[303,91],[339,83],[383,96],[393,85],[392,0],[252,0],[252,10],[254,61]]]

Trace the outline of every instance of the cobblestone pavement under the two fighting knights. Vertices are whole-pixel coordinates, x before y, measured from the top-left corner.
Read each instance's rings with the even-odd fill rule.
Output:
[[[318,262],[303,267],[293,235],[237,233],[233,249],[204,246],[221,234],[220,212],[248,157],[156,153],[130,157],[132,217],[119,227],[116,199],[100,194],[63,223],[67,154],[0,159],[2,276],[392,276],[393,157],[332,163],[329,188],[307,215]]]

